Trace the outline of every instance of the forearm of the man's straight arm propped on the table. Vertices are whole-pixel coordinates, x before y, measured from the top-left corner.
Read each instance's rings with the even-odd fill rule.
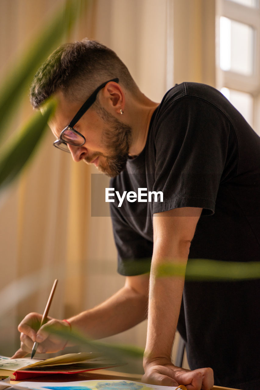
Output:
[[[171,348],[175,337],[182,292],[183,276],[158,276],[162,264],[185,264],[189,254],[189,242],[176,241],[170,249],[165,243],[155,244],[148,307],[148,331],[144,364],[157,358],[171,360]],[[185,269],[185,268],[183,268]]]

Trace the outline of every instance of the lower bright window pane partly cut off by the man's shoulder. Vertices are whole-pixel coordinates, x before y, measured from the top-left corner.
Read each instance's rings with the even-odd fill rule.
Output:
[[[228,88],[221,88],[220,91],[239,110],[250,126],[253,127],[253,96],[246,92]]]

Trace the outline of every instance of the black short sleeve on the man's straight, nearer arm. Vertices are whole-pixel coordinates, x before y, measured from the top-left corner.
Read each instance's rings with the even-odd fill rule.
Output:
[[[201,207],[211,215],[228,151],[230,123],[219,108],[194,96],[167,105],[154,136],[155,182],[163,202],[153,213],[178,207]]]

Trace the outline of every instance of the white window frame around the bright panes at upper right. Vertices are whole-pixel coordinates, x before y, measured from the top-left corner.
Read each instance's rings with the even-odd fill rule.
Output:
[[[259,2],[258,2],[259,3]],[[219,21],[224,16],[255,30],[253,74],[244,75],[220,68]],[[247,7],[232,0],[216,0],[216,87],[226,87],[253,96],[253,128],[260,135],[260,7]]]

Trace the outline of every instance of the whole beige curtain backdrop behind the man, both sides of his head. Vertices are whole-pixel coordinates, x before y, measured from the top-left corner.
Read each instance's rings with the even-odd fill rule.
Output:
[[[64,2],[0,1],[2,79]],[[214,85],[214,17],[214,0],[94,0],[69,39],[88,36],[115,50],[144,94],[159,102],[175,82]],[[19,112],[14,128],[32,112],[28,102]],[[124,284],[116,273],[110,218],[91,216],[96,170],[73,163],[52,142],[48,132],[1,198],[0,355],[18,347],[18,322],[30,311],[43,311],[54,278],[59,284],[50,316],[57,318],[93,307]],[[143,323],[109,341],[144,347],[145,338]]]

